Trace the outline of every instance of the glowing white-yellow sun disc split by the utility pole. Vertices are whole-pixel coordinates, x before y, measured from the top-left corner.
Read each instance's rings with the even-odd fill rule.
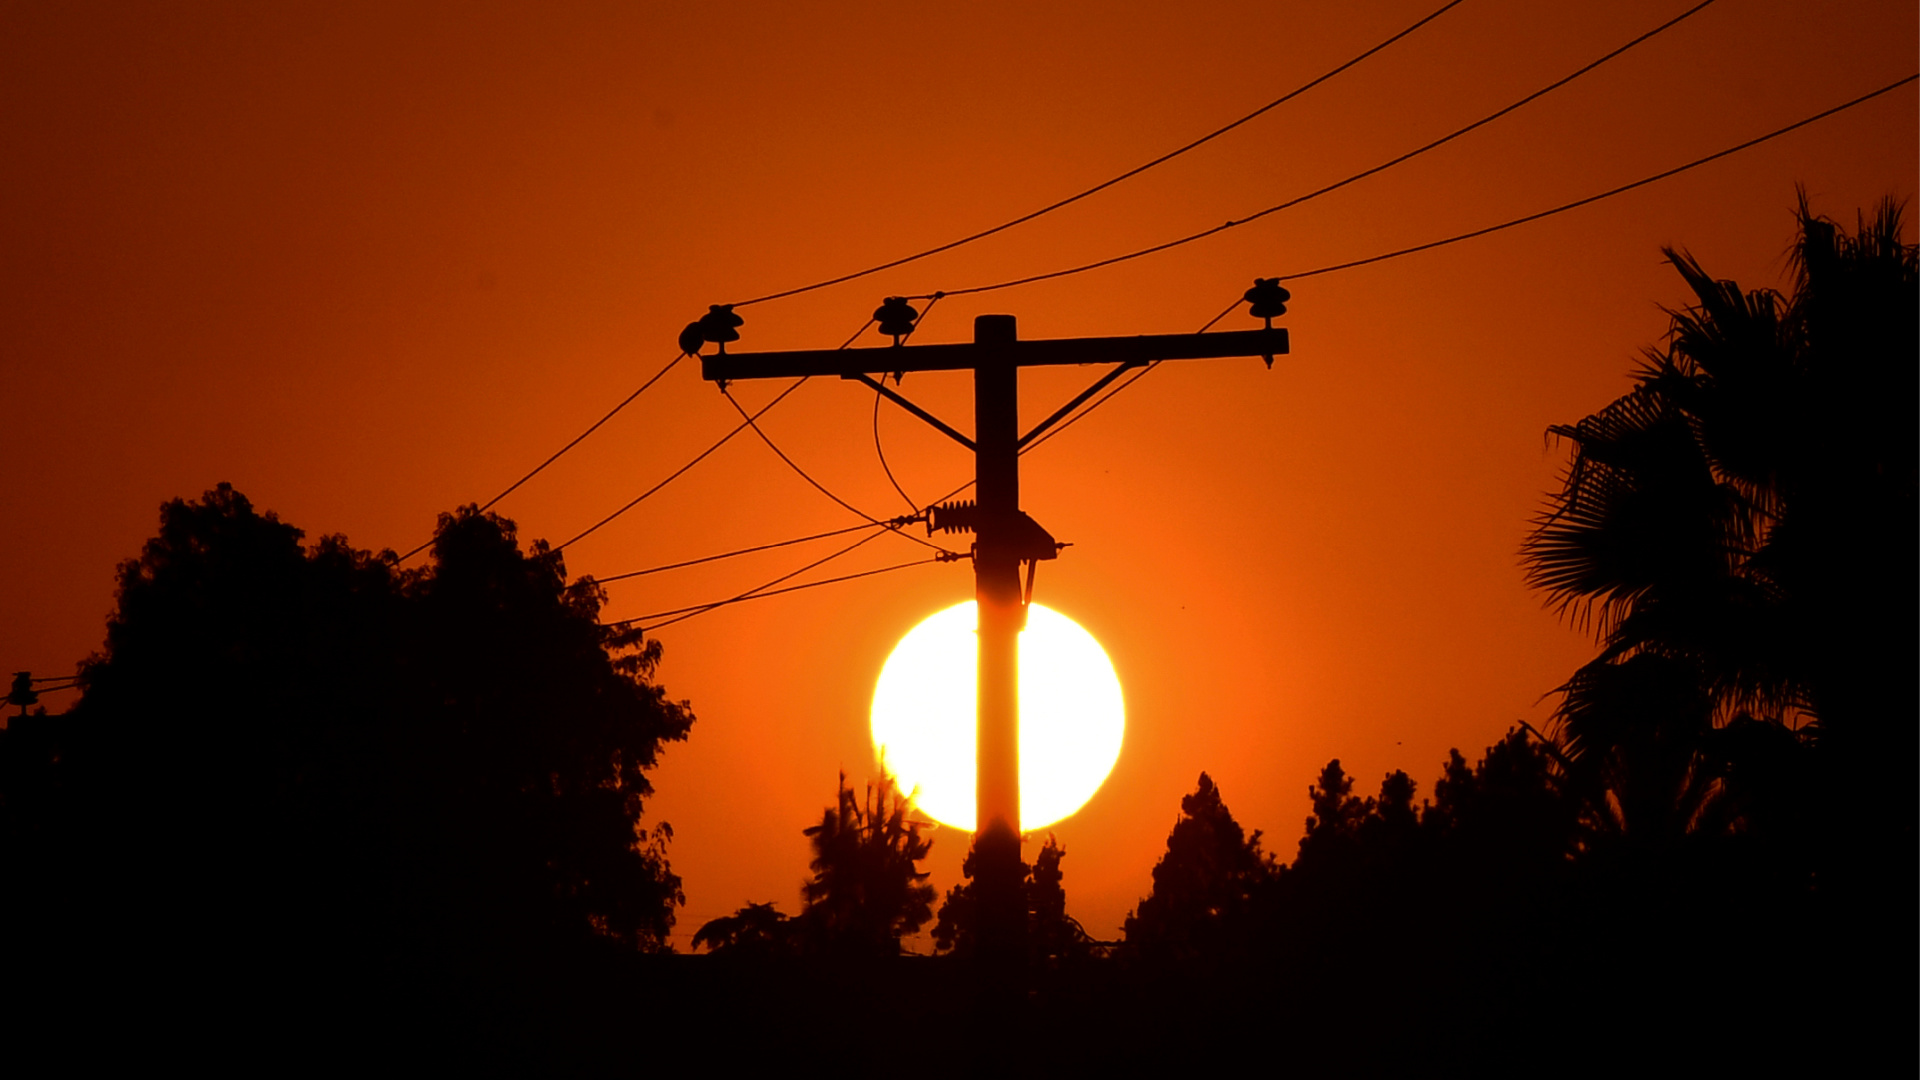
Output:
[[[914,803],[973,828],[973,601],[929,615],[874,686],[874,749]],[[1033,603],[1020,634],[1020,830],[1081,809],[1119,759],[1127,709],[1100,642]]]

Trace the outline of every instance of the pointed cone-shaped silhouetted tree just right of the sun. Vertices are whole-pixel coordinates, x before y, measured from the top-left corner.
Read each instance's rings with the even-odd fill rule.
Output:
[[[1219,788],[1206,773],[1167,836],[1167,853],[1154,865],[1154,888],[1123,924],[1129,951],[1148,959],[1219,955],[1248,932],[1254,894],[1275,865],[1233,821]]]

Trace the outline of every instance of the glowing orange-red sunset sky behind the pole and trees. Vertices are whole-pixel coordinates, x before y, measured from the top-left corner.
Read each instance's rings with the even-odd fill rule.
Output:
[[[10,4],[0,10],[0,669],[100,646],[113,565],[157,505],[230,480],[365,548],[413,548],[674,354],[707,304],[897,258],[1154,158],[1411,23],[1379,4]],[[743,311],[741,350],[829,348],[891,292],[1117,254],[1409,150],[1682,12],[1469,0],[1332,83],[1039,223]],[[1551,10],[1549,10],[1551,8]],[[1183,332],[1250,281],[1432,240],[1640,179],[1916,69],[1910,2],[1720,0],[1519,113],[1258,225],[941,304],[916,340],[1008,311],[1021,336]],[[1912,198],[1912,86],[1538,225],[1294,286],[1294,354],[1167,365],[1025,457],[1075,546],[1039,598],[1110,650],[1129,736],[1056,828],[1069,909],[1114,936],[1202,769],[1292,855],[1306,786],[1430,782],[1542,723],[1590,655],[1521,584],[1563,459],[1549,423],[1626,386],[1682,304],[1659,246],[1784,284],[1793,184],[1851,225]],[[1223,329],[1252,327],[1238,315]],[[877,344],[872,342],[872,344]],[[1029,423],[1091,379],[1027,373]],[[968,421],[970,380],[906,390]],[[764,402],[768,384],[739,388]],[[900,513],[872,394],[804,386],[768,432]],[[735,421],[684,367],[501,511],[561,540]],[[929,500],[964,452],[881,415]],[[962,425],[968,427],[968,425]],[[568,552],[614,575],[851,525],[739,438]],[[820,548],[826,553],[831,548]],[[730,596],[785,550],[611,586],[609,617]],[[841,573],[914,557],[881,540]],[[689,936],[806,871],[835,771],[870,774],[891,644],[972,596],[964,565],[801,592],[664,630],[699,715],[657,773]],[[52,700],[58,705],[58,700]],[[964,834],[935,840],[935,884]]]

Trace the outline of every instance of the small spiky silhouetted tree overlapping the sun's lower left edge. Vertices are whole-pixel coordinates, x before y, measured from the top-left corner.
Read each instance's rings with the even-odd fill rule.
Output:
[[[847,788],[804,832],[812,844],[812,878],[801,888],[806,905],[793,920],[801,947],[847,959],[891,957],[900,938],[933,919],[933,886],[920,861],[933,840],[925,822],[906,815],[906,798],[885,776],[862,799]]]

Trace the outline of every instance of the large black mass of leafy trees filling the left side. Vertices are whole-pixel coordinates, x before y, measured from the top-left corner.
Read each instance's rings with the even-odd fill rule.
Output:
[[[396,947],[664,949],[682,894],[645,771],[693,715],[651,682],[659,644],[474,507],[420,571],[301,538],[227,484],[161,507],[79,703],[40,721],[40,780],[8,771],[10,855],[29,788],[38,830],[10,903],[67,942],[138,907],[169,930],[131,947],[273,978]]]

